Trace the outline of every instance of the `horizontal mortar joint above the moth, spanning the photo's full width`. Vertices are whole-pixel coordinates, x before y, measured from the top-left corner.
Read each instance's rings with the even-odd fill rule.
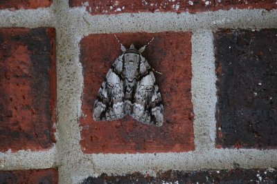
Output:
[[[277,10],[217,10],[215,12],[143,12],[91,15],[84,8],[67,8],[54,14],[52,8],[35,10],[0,10],[0,27],[64,28],[76,25],[88,27],[88,33],[161,32],[187,30],[217,30],[219,28],[277,28]],[[60,17],[62,16],[62,17]],[[55,22],[59,17],[62,24]],[[63,19],[64,18],[64,19]],[[82,18],[82,19],[81,19]]]

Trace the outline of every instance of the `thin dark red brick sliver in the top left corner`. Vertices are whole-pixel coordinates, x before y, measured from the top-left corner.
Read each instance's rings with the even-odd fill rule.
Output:
[[[1,0],[0,9],[36,9],[50,6],[52,0]]]

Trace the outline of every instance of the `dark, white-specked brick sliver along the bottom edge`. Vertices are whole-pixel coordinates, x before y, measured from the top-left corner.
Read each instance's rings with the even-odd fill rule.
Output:
[[[274,168],[254,170],[211,170],[211,171],[168,171],[160,172],[157,177],[139,173],[126,176],[89,177],[82,184],[97,183],[276,183],[277,172]]]

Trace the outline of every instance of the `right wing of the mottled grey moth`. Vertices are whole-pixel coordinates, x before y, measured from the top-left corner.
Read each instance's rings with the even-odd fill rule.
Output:
[[[136,85],[134,94],[134,104],[131,116],[142,123],[148,125],[163,125],[163,104],[161,100],[161,93],[156,84],[156,79],[148,62],[143,62],[148,72],[141,77],[139,83]]]

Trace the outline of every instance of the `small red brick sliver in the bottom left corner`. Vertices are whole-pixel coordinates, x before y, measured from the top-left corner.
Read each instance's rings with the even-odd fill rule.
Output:
[[[57,170],[0,171],[0,183],[55,184],[57,183]]]

